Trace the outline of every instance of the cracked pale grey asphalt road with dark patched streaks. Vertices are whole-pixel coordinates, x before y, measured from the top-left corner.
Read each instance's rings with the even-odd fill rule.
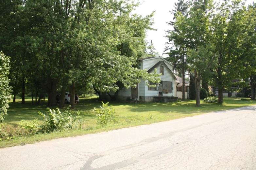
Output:
[[[0,169],[256,170],[256,106],[4,148]]]

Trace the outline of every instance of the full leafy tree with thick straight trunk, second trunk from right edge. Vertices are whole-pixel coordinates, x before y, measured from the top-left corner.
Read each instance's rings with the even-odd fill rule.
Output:
[[[225,0],[215,8],[216,15],[211,20],[212,43],[218,53],[218,63],[213,69],[214,82],[218,87],[218,103],[223,103],[223,89],[237,78],[243,66],[239,60],[241,40],[247,31],[248,18],[246,8],[240,1]]]

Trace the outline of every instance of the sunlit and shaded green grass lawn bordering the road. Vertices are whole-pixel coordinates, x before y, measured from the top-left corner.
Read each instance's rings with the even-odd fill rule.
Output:
[[[224,98],[224,103],[219,105],[217,103],[203,103],[201,106],[196,107],[194,100],[186,100],[184,102],[172,102],[172,103],[118,103],[110,102],[113,105],[116,114],[113,121],[107,126],[101,127],[96,125],[97,117],[93,112],[94,107],[99,107],[101,101],[96,98],[80,98],[80,102],[76,105],[76,110],[81,111],[81,129],[54,132],[51,134],[39,134],[34,136],[23,136],[24,129],[18,127],[20,120],[34,120],[38,118],[42,123],[42,116],[38,114],[38,111],[42,113],[46,112],[46,106],[32,106],[31,100],[26,99],[26,104],[19,104],[18,102],[10,102],[10,108],[8,109],[8,116],[6,116],[5,130],[9,133],[19,134],[13,137],[11,140],[0,141],[0,148],[11,147],[16,145],[32,144],[44,140],[52,140],[61,137],[85,135],[91,133],[98,133],[103,131],[110,131],[119,128],[132,127],[143,124],[150,124],[155,122],[173,120],[184,118],[188,116],[200,115],[212,111],[220,111],[233,109],[237,107],[255,105],[256,101],[251,101],[249,98]],[[66,105],[66,107],[68,104]]]

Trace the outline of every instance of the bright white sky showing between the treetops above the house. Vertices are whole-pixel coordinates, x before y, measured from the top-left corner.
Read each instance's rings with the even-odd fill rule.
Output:
[[[143,2],[143,0],[140,1]],[[146,16],[155,11],[155,24],[153,28],[157,29],[157,31],[147,31],[146,40],[148,42],[152,40],[156,51],[160,54],[163,53],[166,46],[165,43],[168,40],[164,37],[166,35],[165,31],[171,29],[171,26],[166,23],[173,19],[173,15],[169,11],[173,9],[174,2],[177,1],[178,0],[145,0],[144,3],[135,10],[135,13],[141,14],[142,16]],[[253,0],[247,0],[246,6],[252,2]],[[163,57],[167,57],[167,55],[163,55]]]

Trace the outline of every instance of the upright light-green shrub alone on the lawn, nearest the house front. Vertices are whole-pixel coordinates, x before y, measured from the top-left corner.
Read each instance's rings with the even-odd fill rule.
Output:
[[[100,109],[94,107],[94,112],[96,112],[96,116],[98,117],[97,124],[98,125],[106,125],[109,121],[112,120],[113,115],[115,114],[115,109],[113,106],[108,106],[109,102],[104,104],[102,102],[102,106]]]

